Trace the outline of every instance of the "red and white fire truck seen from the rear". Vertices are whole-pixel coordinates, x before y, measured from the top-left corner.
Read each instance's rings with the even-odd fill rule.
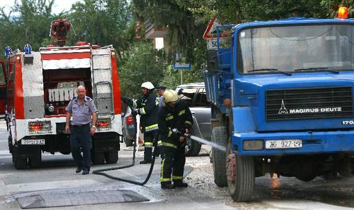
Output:
[[[44,152],[71,153],[69,134],[65,133],[65,107],[80,85],[98,110],[93,163],[118,160],[121,94],[116,51],[112,46],[87,42],[64,47],[67,24],[58,20],[51,25],[51,36],[57,38],[59,46],[51,44],[35,52],[26,44],[24,53],[7,55],[8,145],[17,169],[37,167]]]

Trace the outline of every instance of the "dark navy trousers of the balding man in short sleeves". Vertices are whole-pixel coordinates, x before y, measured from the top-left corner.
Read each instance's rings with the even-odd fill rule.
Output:
[[[90,124],[84,124],[82,126],[72,125],[70,129],[70,147],[71,155],[78,164],[82,166],[84,170],[90,170],[91,166],[91,148],[92,138],[90,134]],[[82,157],[81,155],[84,155]]]

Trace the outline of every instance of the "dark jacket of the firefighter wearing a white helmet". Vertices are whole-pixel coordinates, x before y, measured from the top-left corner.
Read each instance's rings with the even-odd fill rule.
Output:
[[[133,107],[138,109],[138,114],[141,116],[140,125],[142,133],[156,131],[158,129],[158,101],[156,101],[156,97],[153,92],[145,94],[142,99],[134,101]]]

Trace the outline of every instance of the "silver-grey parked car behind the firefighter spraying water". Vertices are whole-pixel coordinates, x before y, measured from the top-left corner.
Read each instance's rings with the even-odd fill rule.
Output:
[[[207,101],[204,82],[180,85],[177,86],[176,91],[180,100],[189,104],[193,114],[193,135],[211,141],[211,108]],[[187,140],[186,155],[198,155],[201,146],[199,142]]]

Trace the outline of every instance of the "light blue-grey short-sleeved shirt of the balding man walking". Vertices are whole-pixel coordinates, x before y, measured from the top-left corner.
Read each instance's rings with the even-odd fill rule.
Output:
[[[81,105],[78,102],[78,98],[73,97],[65,110],[69,111],[71,116],[73,116],[72,125],[88,124],[91,122],[91,115],[97,113],[95,104],[88,96],[85,96]]]

